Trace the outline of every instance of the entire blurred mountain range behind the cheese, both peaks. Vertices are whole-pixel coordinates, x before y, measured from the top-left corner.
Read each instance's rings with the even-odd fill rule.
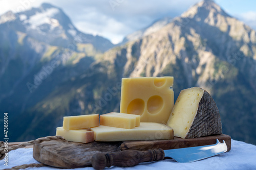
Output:
[[[123,77],[174,76],[206,89],[223,133],[256,144],[256,33],[214,1],[108,39],[78,31],[59,8],[0,16],[0,112],[10,141],[55,135],[63,116],[119,111]],[[0,126],[3,126],[3,120]]]

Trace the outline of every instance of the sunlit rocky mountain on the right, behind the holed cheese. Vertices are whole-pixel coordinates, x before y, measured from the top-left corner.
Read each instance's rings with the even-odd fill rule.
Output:
[[[158,31],[106,52],[103,60],[122,72],[120,78],[174,76],[175,98],[185,88],[206,89],[221,111],[224,133],[249,142],[245,138],[255,133],[248,130],[255,128],[255,35],[214,1],[202,1]]]

